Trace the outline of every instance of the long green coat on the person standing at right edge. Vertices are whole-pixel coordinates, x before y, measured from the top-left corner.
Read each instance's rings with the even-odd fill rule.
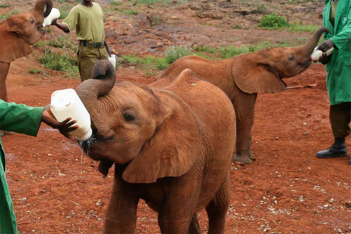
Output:
[[[338,105],[351,101],[351,1],[338,1],[335,27],[329,20],[331,1],[324,2],[323,26],[331,31],[324,34],[324,39],[330,39],[336,48],[325,69],[330,105]]]

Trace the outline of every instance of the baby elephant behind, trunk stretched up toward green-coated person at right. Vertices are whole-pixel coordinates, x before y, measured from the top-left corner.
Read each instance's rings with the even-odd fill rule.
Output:
[[[286,84],[282,79],[297,75],[310,66],[310,55],[323,32],[330,33],[329,29],[321,27],[303,46],[269,47],[221,61],[185,56],[172,63],[159,78],[177,76],[189,68],[198,79],[222,89],[232,101],[236,113],[237,142],[232,161],[251,164],[251,128],[257,93],[283,92]]]

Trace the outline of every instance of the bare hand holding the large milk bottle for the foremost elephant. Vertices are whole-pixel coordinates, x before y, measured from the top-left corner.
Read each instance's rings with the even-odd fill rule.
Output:
[[[50,105],[46,105],[44,107],[44,111],[43,111],[42,116],[41,116],[41,122],[46,123],[47,125],[49,125],[50,127],[54,128],[54,129],[58,129],[60,131],[60,133],[64,136],[66,136],[67,138],[75,139],[74,136],[71,136],[68,133],[79,128],[79,126],[76,125],[76,126],[71,127],[72,125],[74,125],[74,123],[77,123],[77,120],[73,120],[73,121],[69,122],[71,119],[72,118],[67,118],[62,122],[57,121],[57,119],[55,118],[55,116],[51,112]]]

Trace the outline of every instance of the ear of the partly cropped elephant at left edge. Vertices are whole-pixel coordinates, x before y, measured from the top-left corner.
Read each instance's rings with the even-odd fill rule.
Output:
[[[4,27],[4,25],[1,25]],[[0,32],[0,41],[3,46],[0,46],[0,61],[11,63],[16,59],[27,56],[32,53],[32,47],[30,47],[27,42],[16,36],[14,32],[9,29]]]

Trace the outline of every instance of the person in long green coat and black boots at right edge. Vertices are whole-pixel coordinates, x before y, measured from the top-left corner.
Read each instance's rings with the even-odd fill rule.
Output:
[[[318,151],[317,158],[347,156],[346,136],[350,135],[351,121],[351,1],[326,0],[323,26],[331,33],[318,49],[326,52],[334,47],[331,55],[323,53],[319,62],[326,65],[327,90],[330,102],[329,119],[334,135],[333,145]],[[349,161],[351,164],[351,159]]]

